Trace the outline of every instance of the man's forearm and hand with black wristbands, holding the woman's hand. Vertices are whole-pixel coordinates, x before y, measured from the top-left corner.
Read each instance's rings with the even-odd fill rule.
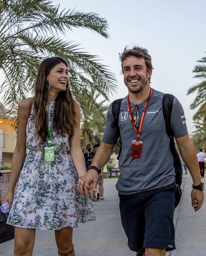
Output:
[[[108,144],[102,142],[95,153],[92,164],[96,166],[98,169],[101,169],[107,162],[112,154],[112,150],[115,144]],[[78,190],[81,195],[88,196],[88,190],[92,188],[95,192],[97,192],[97,171],[94,169],[90,169],[84,176],[78,181]]]

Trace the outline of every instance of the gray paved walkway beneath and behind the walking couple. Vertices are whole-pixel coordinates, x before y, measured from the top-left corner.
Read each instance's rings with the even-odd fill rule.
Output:
[[[177,250],[167,252],[167,256],[202,256],[206,254],[206,206],[203,204],[200,211],[194,212],[190,200],[192,179],[189,174],[183,176],[183,196],[174,215]],[[97,220],[74,229],[76,256],[135,256],[127,247],[121,225],[116,180],[104,180],[105,201],[94,205]],[[13,246],[14,240],[0,244],[0,255],[12,256]],[[40,255],[58,255],[53,231],[37,230],[33,256]]]

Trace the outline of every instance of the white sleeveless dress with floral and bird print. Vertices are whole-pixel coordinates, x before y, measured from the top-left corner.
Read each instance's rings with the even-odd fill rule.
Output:
[[[55,102],[48,102],[48,126],[54,116]],[[30,149],[23,164],[7,224],[31,229],[75,228],[79,222],[95,220],[90,198],[77,190],[78,174],[70,155],[70,140],[52,131],[51,146],[55,160],[46,162],[44,146],[34,137],[34,105],[26,126],[26,147]]]

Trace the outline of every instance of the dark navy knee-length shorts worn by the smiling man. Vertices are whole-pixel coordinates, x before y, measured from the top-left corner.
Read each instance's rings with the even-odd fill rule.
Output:
[[[122,226],[130,250],[176,249],[173,224],[175,189],[174,181],[162,188],[129,195],[119,194]]]

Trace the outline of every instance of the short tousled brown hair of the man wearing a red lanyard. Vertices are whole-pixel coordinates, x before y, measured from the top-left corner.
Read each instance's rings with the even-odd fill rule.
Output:
[[[141,48],[139,46],[134,46],[132,49],[128,49],[127,46],[124,48],[123,53],[119,53],[120,56],[120,61],[121,61],[121,65],[123,63],[123,61],[129,57],[129,56],[135,56],[137,58],[144,58],[145,59],[145,64],[147,67],[147,71],[149,71],[150,69],[154,69],[152,67],[152,62],[151,62],[151,56],[148,54],[148,50]],[[123,66],[122,66],[122,72],[123,72]],[[150,78],[149,77],[149,83],[150,83]]]

